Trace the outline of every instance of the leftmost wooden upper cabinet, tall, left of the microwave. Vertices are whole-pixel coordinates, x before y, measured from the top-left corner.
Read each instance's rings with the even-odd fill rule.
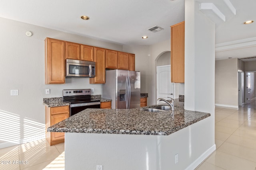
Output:
[[[45,42],[45,84],[65,83],[65,41],[46,38]]]

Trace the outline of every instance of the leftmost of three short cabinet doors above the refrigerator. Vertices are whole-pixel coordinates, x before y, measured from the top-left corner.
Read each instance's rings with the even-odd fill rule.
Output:
[[[116,69],[118,64],[118,52],[114,50],[106,50],[106,68]]]

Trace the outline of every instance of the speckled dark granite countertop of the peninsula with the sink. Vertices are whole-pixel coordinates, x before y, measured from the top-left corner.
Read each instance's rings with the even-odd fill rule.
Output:
[[[172,111],[148,112],[140,110],[141,108],[129,110],[85,109],[64,121],[48,127],[47,131],[170,135],[210,116],[210,113],[188,111],[179,107],[175,109],[174,115]]]

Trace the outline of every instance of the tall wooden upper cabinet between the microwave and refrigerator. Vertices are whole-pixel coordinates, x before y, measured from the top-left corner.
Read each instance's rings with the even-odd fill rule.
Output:
[[[90,78],[90,83],[105,83],[106,49],[94,47],[95,77]]]

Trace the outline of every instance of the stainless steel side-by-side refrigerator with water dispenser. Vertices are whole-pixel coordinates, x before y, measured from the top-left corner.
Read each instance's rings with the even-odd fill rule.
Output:
[[[140,72],[106,70],[106,83],[102,85],[102,98],[112,99],[112,109],[140,107]]]

